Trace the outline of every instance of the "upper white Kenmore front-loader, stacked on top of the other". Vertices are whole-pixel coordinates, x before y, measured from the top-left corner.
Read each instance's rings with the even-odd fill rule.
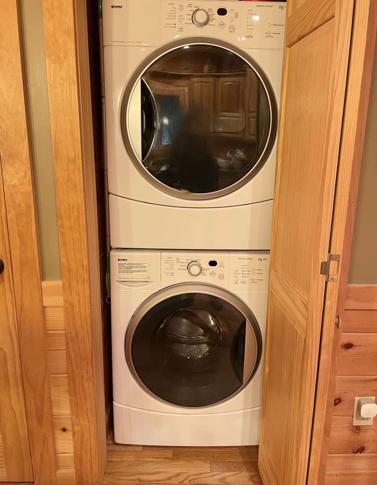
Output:
[[[103,1],[113,247],[269,249],[285,5]]]

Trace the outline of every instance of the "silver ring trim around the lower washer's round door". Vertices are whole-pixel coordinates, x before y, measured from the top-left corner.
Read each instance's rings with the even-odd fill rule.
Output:
[[[136,372],[136,369],[132,362],[132,355],[131,355],[132,338],[142,318],[148,313],[149,310],[151,310],[153,307],[163,302],[164,300],[167,300],[173,296],[179,296],[182,294],[189,294],[189,293],[202,293],[206,295],[215,296],[217,298],[220,298],[228,302],[230,305],[235,307],[239,312],[241,312],[246,319],[245,346],[246,345],[251,346],[251,348],[248,348],[248,349],[245,348],[243,384],[236,390],[236,392],[231,394],[226,399],[223,399],[222,401],[219,401],[214,404],[209,404],[208,406],[186,407],[186,406],[180,406],[180,405],[172,404],[172,403],[169,403],[168,401],[165,401],[164,399],[154,394],[144,384],[144,382],[140,379],[138,373]],[[255,355],[254,358],[253,358],[253,353]],[[255,372],[257,372],[259,364],[261,362],[262,335],[261,335],[261,330],[259,328],[258,322],[255,316],[253,315],[252,311],[245,305],[243,301],[241,301],[233,293],[230,293],[229,291],[223,288],[209,285],[207,283],[178,283],[176,285],[172,285],[160,291],[157,291],[149,298],[147,298],[147,300],[145,300],[137,308],[135,313],[132,315],[130,323],[127,327],[126,338],[125,338],[125,354],[126,354],[127,364],[129,366],[129,369],[131,371],[133,378],[135,379],[137,384],[154,399],[157,399],[158,401],[164,404],[170,404],[172,406],[176,406],[180,408],[184,407],[184,409],[202,409],[202,408],[204,409],[207,407],[213,407],[217,404],[221,404],[221,403],[225,403],[226,401],[229,401],[229,399],[231,399],[236,394],[238,394],[250,382]]]

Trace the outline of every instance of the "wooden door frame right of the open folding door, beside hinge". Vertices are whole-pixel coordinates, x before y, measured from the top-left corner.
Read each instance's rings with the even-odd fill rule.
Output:
[[[355,0],[329,247],[329,253],[341,254],[340,277],[338,282],[327,284],[325,293],[308,485],[322,485],[325,480],[335,396],[336,360],[342,333],[342,330],[338,329],[334,323],[337,315],[342,319],[345,307],[376,29],[376,2],[374,0]]]

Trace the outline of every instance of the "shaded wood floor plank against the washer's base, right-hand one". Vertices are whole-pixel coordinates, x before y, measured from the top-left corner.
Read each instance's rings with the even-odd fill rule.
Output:
[[[257,461],[258,447],[240,448],[173,448],[173,459],[210,461]]]

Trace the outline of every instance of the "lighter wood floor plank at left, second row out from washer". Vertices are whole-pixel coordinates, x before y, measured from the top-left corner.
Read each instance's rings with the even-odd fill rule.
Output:
[[[109,461],[107,464],[109,471],[132,472],[138,474],[139,472],[149,473],[155,471],[179,471],[179,472],[207,472],[211,471],[209,461],[183,461],[183,460],[122,460]]]

